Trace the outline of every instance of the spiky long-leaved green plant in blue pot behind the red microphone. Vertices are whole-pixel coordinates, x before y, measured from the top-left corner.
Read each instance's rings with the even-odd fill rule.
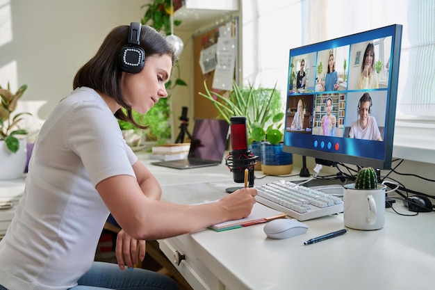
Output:
[[[255,156],[258,156],[255,169],[261,170],[261,141],[263,138],[256,140],[253,138],[252,131],[257,127],[266,131],[273,122],[273,116],[281,112],[279,91],[275,88],[254,88],[252,85],[238,86],[236,81],[233,81],[233,90],[227,92],[226,95],[209,90],[205,81],[204,88],[206,93],[199,92],[199,95],[209,99],[217,108],[220,117],[227,120],[229,124],[233,116],[246,117],[249,148]]]

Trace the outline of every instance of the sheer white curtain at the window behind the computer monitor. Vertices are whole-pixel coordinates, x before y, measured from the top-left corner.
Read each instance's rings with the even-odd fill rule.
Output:
[[[397,118],[435,120],[435,1],[302,0],[302,42],[402,24]]]

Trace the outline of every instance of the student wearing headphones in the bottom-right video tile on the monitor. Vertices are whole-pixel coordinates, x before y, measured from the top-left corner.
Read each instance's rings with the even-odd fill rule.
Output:
[[[381,132],[377,127],[375,117],[370,116],[372,111],[372,98],[368,92],[359,99],[358,113],[359,119],[352,123],[350,127],[349,138],[378,140],[381,141]]]

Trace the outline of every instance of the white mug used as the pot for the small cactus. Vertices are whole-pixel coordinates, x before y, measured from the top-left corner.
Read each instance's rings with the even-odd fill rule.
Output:
[[[356,189],[346,184],[343,193],[344,222],[351,229],[381,229],[385,225],[386,186],[374,189]]]

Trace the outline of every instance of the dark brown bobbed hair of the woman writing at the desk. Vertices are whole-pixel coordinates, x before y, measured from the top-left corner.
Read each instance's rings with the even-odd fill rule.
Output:
[[[117,26],[110,31],[101,47],[99,47],[97,54],[77,72],[72,86],[73,89],[85,86],[112,97],[127,111],[126,115],[122,109],[118,110],[115,113],[116,118],[145,129],[146,127],[140,126],[134,120],[131,114],[131,106],[124,99],[121,89],[120,51],[122,46],[128,42],[129,29],[130,26],[123,25]],[[147,57],[153,55],[162,56],[164,54],[171,56],[172,64],[174,64],[174,49],[166,41],[165,36],[150,26],[142,26],[140,47],[145,51],[145,64],[147,63]]]

